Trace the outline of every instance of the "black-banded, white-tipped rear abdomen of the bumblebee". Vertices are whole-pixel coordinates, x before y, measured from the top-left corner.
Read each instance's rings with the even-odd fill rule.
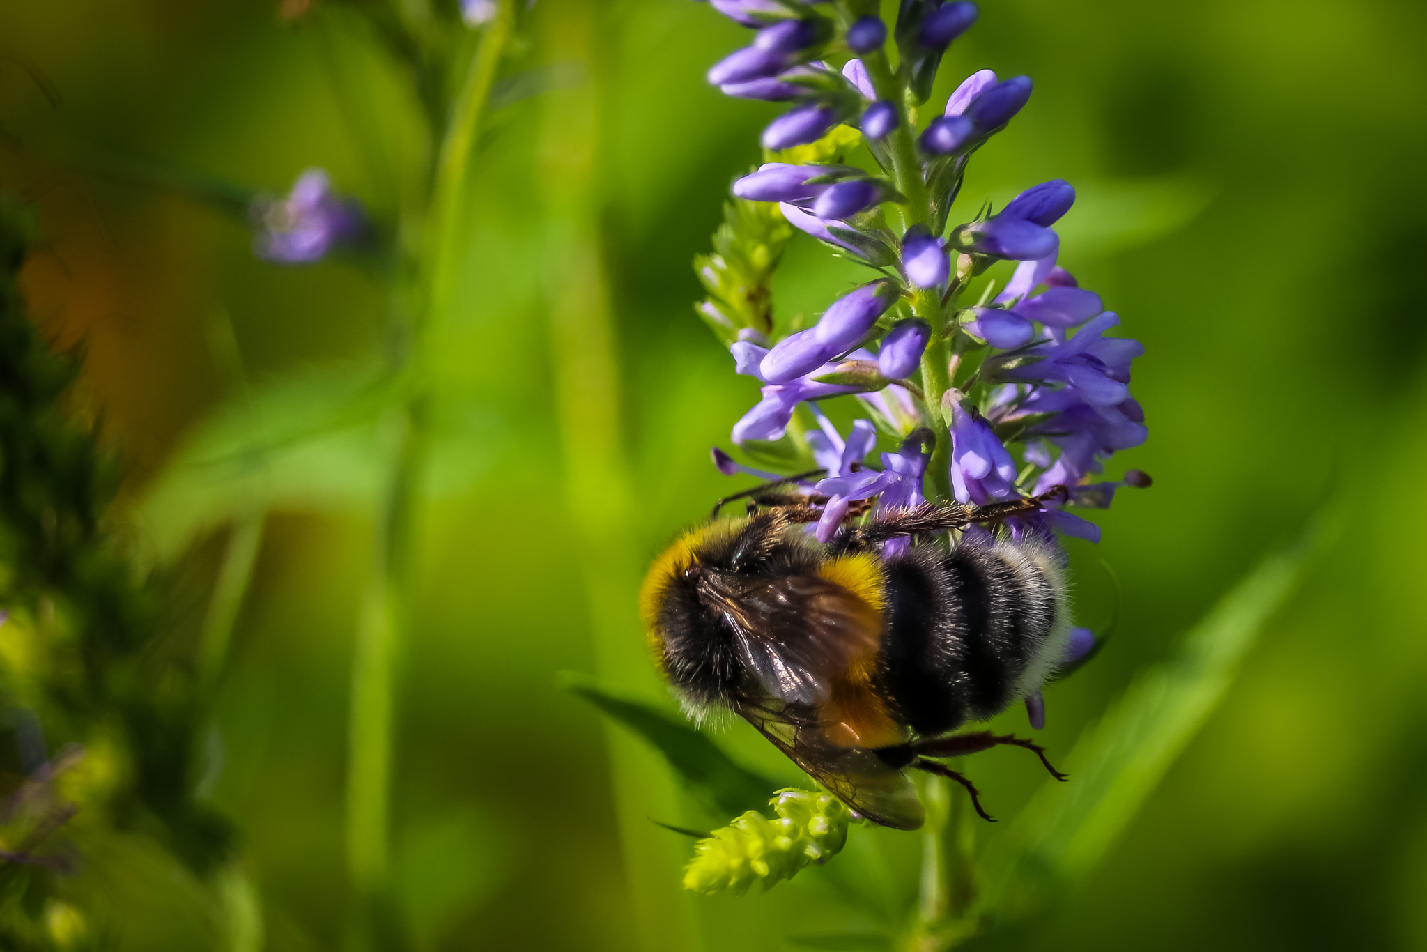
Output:
[[[883,671],[923,736],[995,716],[1033,692],[1069,634],[1062,568],[1033,544],[915,547],[883,568]]]

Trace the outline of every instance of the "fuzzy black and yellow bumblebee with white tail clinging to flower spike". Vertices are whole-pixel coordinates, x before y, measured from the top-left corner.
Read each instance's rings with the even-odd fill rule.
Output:
[[[975,785],[935,758],[1030,741],[953,734],[1035,694],[1070,635],[1065,562],[1050,542],[962,534],[1029,515],[1029,500],[890,510],[843,525],[821,545],[802,524],[806,497],[755,497],[746,517],[715,520],[674,542],[649,569],[641,612],[655,659],[701,718],[728,708],[868,819],[923,822],[908,769]],[[715,514],[716,514],[715,508]],[[893,555],[882,544],[912,537]]]

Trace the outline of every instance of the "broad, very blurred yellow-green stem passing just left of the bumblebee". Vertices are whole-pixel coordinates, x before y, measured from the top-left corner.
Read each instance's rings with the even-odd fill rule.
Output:
[[[662,697],[649,664],[635,592],[642,548],[621,424],[621,374],[599,240],[598,174],[602,6],[567,3],[544,17],[541,46],[557,63],[586,64],[589,80],[545,97],[539,176],[548,201],[549,357],[565,470],[567,525],[584,582],[595,669],[605,681],[641,682]],[[678,816],[681,802],[658,754],[608,726],[615,818],[632,906],[632,932],[646,952],[699,948],[692,903],[681,889],[686,842],[649,822]]]

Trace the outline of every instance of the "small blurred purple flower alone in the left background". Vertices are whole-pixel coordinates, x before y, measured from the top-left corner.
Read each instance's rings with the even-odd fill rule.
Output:
[[[355,244],[367,231],[361,206],[338,198],[321,168],[298,176],[287,198],[255,203],[254,214],[255,254],[280,264],[320,261],[335,247]]]

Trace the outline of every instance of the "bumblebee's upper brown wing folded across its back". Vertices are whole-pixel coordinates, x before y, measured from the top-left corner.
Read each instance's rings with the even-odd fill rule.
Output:
[[[771,698],[818,704],[849,668],[876,658],[882,615],[825,578],[709,574],[699,594],[728,619],[741,661]]]

